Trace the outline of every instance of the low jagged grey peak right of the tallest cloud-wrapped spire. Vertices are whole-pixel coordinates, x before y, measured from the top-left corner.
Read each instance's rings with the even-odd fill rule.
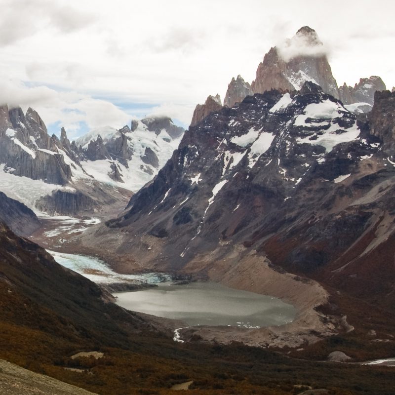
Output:
[[[386,85],[380,77],[361,78],[354,87],[344,83],[339,88],[340,100],[344,104],[368,103],[373,105],[375,92],[382,90],[386,90]]]

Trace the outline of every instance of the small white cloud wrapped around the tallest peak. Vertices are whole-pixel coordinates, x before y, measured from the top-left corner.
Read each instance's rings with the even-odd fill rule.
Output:
[[[292,39],[282,41],[276,45],[279,55],[285,62],[297,56],[315,56],[327,55],[328,48],[323,45],[315,32],[303,34],[298,32]]]

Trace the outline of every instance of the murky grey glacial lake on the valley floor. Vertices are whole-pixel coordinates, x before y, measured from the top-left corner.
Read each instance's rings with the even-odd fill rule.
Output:
[[[117,304],[128,310],[181,319],[189,326],[265,327],[291,322],[296,315],[295,308],[280,299],[214,282],[160,283],[156,288],[114,295]]]

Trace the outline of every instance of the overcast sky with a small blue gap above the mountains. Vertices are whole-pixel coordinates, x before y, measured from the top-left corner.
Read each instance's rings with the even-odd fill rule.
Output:
[[[305,25],[328,48],[338,84],[395,85],[389,0],[0,0],[0,102],[36,109],[69,137],[168,115],[251,82],[270,47]]]

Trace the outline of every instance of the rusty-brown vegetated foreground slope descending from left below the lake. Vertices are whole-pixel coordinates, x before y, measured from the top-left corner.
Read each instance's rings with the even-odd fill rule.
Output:
[[[98,394],[393,394],[393,369],[317,363],[247,348],[176,344],[100,289],[57,265],[36,244],[0,230],[0,357]],[[101,359],[70,356],[100,350]],[[79,367],[83,373],[65,370]]]

